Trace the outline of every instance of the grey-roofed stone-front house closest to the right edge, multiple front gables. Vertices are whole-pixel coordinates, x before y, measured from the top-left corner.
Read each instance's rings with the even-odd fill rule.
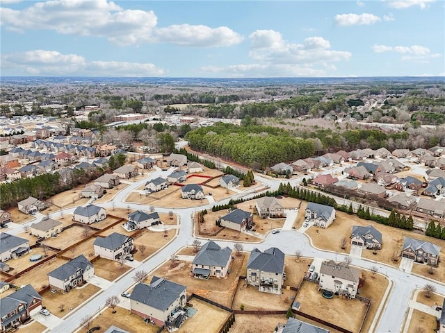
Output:
[[[440,247],[429,241],[419,241],[419,239],[405,237],[401,256],[413,259],[416,262],[437,266],[439,263],[439,253]]]

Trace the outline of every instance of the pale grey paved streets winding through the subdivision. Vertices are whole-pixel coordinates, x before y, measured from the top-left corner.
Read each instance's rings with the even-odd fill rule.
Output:
[[[150,173],[149,178],[156,178],[159,176],[167,176],[171,171],[161,171],[160,169],[156,169],[156,171]],[[256,175],[257,180],[263,182],[265,185],[270,187],[270,190],[277,189],[280,185],[280,180],[275,180],[271,178],[267,178],[261,175]],[[140,180],[128,187],[122,189],[116,196],[113,198],[115,203],[115,207],[130,207],[131,210],[146,210],[146,205],[140,205],[137,203],[125,203],[124,200],[131,193],[131,191],[135,190],[140,185],[145,184],[147,178]],[[287,181],[285,181],[287,182]],[[291,180],[291,184],[294,182],[299,182],[299,180]],[[247,192],[234,194],[231,198],[251,198],[256,195],[254,193],[255,189],[250,189]],[[342,199],[340,199],[342,200]],[[225,200],[221,200],[219,203],[227,203],[229,198]],[[111,208],[112,203],[99,203],[102,207]],[[211,208],[211,204],[202,205],[200,207],[193,208],[182,208],[182,209],[172,209],[172,208],[161,208],[156,207],[157,212],[169,212],[173,210],[175,214],[179,216],[180,228],[178,229],[177,237],[173,239],[168,245],[159,250],[154,256],[150,257],[147,261],[140,264],[137,270],[145,270],[145,271],[154,271],[158,266],[163,264],[165,260],[168,260],[170,256],[179,250],[179,248],[188,246],[192,244],[195,239],[192,234],[192,215],[197,210],[209,209]],[[65,214],[72,212],[74,208],[70,208],[65,210]],[[55,212],[51,214],[51,217],[56,218],[60,215],[60,212]],[[31,223],[31,222],[30,222]],[[11,231],[11,230],[9,230]],[[20,226],[19,230],[13,230],[12,233],[17,233],[22,231],[22,226]],[[234,242],[230,241],[217,241],[218,244],[222,246],[233,246]],[[302,255],[305,257],[317,257],[321,259],[334,259],[337,261],[341,261],[346,257],[345,255],[340,255],[338,253],[332,253],[324,250],[318,250],[314,248],[312,244],[309,243],[309,239],[305,234],[298,232],[297,230],[282,230],[282,232],[277,234],[269,233],[266,237],[266,240],[261,244],[244,244],[244,250],[250,251],[253,248],[259,248],[259,250],[266,250],[270,247],[280,248],[286,255],[294,255],[296,250],[301,250]],[[375,323],[375,326],[372,327],[372,332],[401,332],[403,321],[405,318],[405,312],[408,309],[408,305],[410,302],[411,293],[416,287],[421,287],[426,283],[432,283],[435,285],[437,291],[439,293],[445,293],[445,286],[439,282],[430,281],[426,278],[421,278],[416,275],[407,274],[403,271],[398,270],[392,266],[387,266],[385,264],[380,264],[378,262],[371,262],[366,259],[353,259],[353,265],[358,266],[360,268],[370,269],[371,266],[378,266],[379,273],[387,275],[389,280],[394,282],[394,289],[389,294],[389,299],[387,300],[386,309],[380,318],[380,321]],[[79,327],[79,323],[81,318],[90,314],[97,314],[100,308],[103,308],[105,305],[105,300],[108,296],[112,295],[120,295],[122,291],[126,291],[129,289],[134,283],[132,276],[135,270],[130,270],[128,273],[124,274],[118,281],[113,283],[108,289],[102,291],[97,296],[92,298],[90,301],[81,305],[78,309],[75,309],[72,314],[68,315],[67,318],[52,328],[51,332],[75,332],[73,327]]]

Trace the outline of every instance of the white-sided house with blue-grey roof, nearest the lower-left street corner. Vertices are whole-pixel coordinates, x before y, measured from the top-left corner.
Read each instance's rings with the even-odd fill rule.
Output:
[[[79,255],[47,275],[49,287],[65,293],[92,278],[95,275],[95,266],[84,255]]]

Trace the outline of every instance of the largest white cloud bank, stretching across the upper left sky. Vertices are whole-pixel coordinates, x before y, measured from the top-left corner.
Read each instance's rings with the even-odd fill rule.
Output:
[[[105,37],[120,46],[170,42],[188,46],[230,46],[242,37],[220,26],[172,25],[158,28],[152,10],[125,10],[107,0],[53,0],[23,10],[0,8],[10,31],[52,30],[65,35]]]

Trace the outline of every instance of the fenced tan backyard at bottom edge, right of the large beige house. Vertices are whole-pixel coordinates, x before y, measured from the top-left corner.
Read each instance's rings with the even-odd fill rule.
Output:
[[[196,298],[192,298],[189,302],[193,305],[193,309],[197,310],[197,313],[192,318],[186,320],[184,325],[177,331],[178,333],[203,332],[203,330],[205,332],[218,332],[218,329],[229,318],[229,312],[207,302],[197,300]]]

